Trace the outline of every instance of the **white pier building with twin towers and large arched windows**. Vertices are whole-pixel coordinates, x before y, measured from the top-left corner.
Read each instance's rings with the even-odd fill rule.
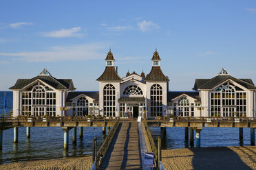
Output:
[[[253,81],[232,77],[225,69],[211,79],[196,79],[194,91],[173,92],[157,51],[147,76],[143,71],[140,75],[128,71],[121,78],[111,51],[105,61],[105,71],[97,79],[98,92],[74,92],[72,80],[58,80],[47,70],[32,79],[18,80],[10,88],[14,116],[255,117]]]

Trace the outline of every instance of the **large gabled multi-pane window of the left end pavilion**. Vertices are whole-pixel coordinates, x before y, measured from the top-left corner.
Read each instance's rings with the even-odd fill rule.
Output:
[[[55,91],[40,82],[25,89],[22,92],[22,114],[56,116]]]

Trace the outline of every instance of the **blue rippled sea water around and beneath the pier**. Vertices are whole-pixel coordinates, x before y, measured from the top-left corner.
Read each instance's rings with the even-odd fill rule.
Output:
[[[12,110],[12,92],[6,92],[7,110]],[[4,112],[4,92],[0,92],[0,113]],[[188,147],[184,139],[184,127],[167,127],[166,134],[160,127],[149,127],[153,138],[162,138],[162,149]],[[43,160],[63,157],[78,157],[92,154],[92,139],[98,139],[98,148],[106,135],[102,127],[84,127],[83,139],[72,144],[70,130],[69,149],[63,149],[63,130],[61,127],[31,127],[31,137],[26,138],[26,127],[19,127],[19,143],[13,143],[13,128],[3,131],[3,149],[0,151],[0,162],[19,162],[25,160]],[[244,141],[239,141],[239,128],[235,127],[204,127],[201,131],[201,147],[224,147],[250,145],[250,128],[244,128]]]

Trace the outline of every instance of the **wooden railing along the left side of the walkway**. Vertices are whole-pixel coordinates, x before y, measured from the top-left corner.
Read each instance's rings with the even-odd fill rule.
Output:
[[[100,163],[103,161],[103,158],[107,153],[107,149],[109,149],[109,145],[112,139],[114,138],[114,135],[116,134],[116,130],[118,129],[119,125],[120,125],[120,118],[117,119],[111,131],[109,132],[109,134],[107,134],[107,138],[105,138],[105,141],[103,142],[100,149],[98,150],[98,154],[96,157],[96,169],[100,167]]]

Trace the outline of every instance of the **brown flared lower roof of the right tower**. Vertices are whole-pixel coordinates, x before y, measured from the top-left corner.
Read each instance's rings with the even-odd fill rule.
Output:
[[[164,73],[162,73],[162,70],[160,69],[160,66],[152,66],[152,69],[147,75],[147,77],[144,79],[146,82],[147,81],[164,81],[167,82],[169,81],[169,78],[167,78]]]

